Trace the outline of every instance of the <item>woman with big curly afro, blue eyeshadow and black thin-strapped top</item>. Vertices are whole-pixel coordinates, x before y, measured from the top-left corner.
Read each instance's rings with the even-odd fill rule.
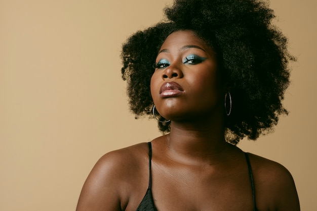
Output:
[[[287,114],[294,60],[265,3],[176,0],[123,46],[136,117],[165,135],[105,154],[77,210],[300,210],[291,174],[235,146]],[[153,65],[154,63],[154,65]]]

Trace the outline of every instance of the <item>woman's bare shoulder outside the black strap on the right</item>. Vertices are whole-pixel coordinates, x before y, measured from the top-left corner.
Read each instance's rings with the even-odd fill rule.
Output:
[[[281,164],[248,153],[253,171],[258,208],[300,210],[291,173]]]

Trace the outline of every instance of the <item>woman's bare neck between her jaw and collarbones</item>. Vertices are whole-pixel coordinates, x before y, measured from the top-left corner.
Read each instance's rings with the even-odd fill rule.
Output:
[[[225,141],[223,124],[219,123],[172,122],[167,141],[170,155],[183,162],[210,163],[231,148]]]

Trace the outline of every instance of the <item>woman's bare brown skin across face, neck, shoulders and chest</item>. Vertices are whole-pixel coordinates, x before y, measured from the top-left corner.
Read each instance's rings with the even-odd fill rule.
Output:
[[[206,59],[183,62],[193,54]],[[215,52],[191,31],[177,31],[165,40],[156,63],[162,59],[168,63],[157,65],[151,94],[157,111],[171,120],[171,132],[151,141],[156,208],[253,210],[244,153],[224,139],[224,93],[230,87],[220,82]],[[162,97],[161,86],[172,81],[182,92]],[[288,170],[249,156],[257,208],[300,210]],[[88,176],[76,210],[136,210],[148,188],[148,171],[147,143],[105,154]]]

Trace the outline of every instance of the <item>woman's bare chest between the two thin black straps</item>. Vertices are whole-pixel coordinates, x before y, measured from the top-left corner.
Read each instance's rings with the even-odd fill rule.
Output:
[[[230,169],[152,169],[151,189],[159,210],[253,210],[245,166]]]

